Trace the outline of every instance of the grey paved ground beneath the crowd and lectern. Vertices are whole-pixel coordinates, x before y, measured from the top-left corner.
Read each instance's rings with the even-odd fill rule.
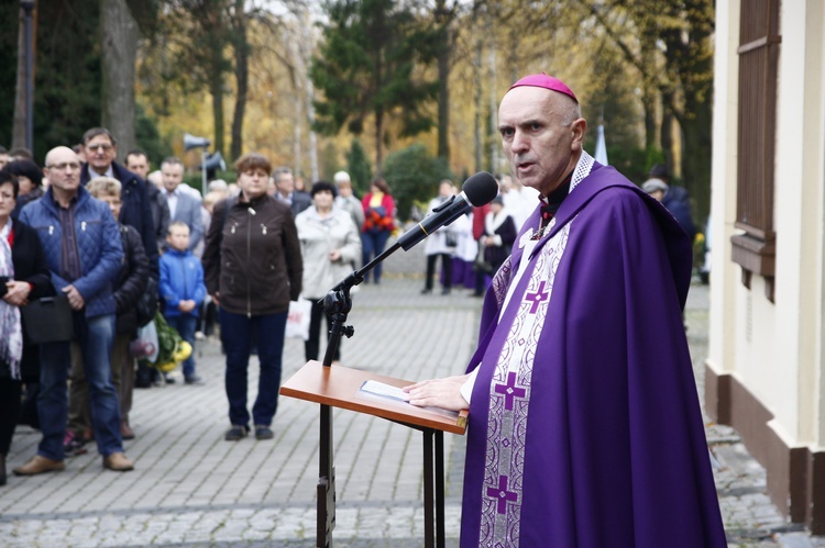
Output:
[[[419,380],[463,371],[474,348],[481,300],[468,290],[421,295],[422,246],[397,251],[380,286],[353,298],[352,339],[342,364]],[[436,292],[438,293],[438,292]],[[707,351],[707,288],[694,286],[686,323],[702,389]],[[205,385],[178,382],[135,390],[125,443],[135,471],[106,471],[94,445],[66,470],[9,477],[0,488],[0,546],[315,546],[318,406],[280,398],[275,439],[223,440],[229,427],[223,357],[216,340],[198,345]],[[287,339],[284,374],[304,365],[301,340]],[[251,360],[250,400],[257,366]],[[333,413],[340,547],[419,547],[424,537],[422,447],[418,432],[344,410]],[[735,430],[708,424],[716,484],[729,546],[825,547],[785,522],[766,495],[765,470]],[[35,454],[40,435],[20,427],[8,468]],[[458,546],[464,438],[444,436],[448,546]]]

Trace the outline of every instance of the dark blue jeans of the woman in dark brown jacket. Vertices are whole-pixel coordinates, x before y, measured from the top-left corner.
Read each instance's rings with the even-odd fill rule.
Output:
[[[252,407],[255,425],[270,426],[278,406],[280,360],[284,355],[284,331],[287,312],[249,317],[221,309],[221,343],[227,353],[227,399],[229,421],[235,426],[249,426],[246,410],[248,370],[253,336],[257,343],[261,374],[257,398]]]

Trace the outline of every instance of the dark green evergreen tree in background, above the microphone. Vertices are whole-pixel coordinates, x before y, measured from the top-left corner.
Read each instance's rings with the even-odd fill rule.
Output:
[[[360,135],[372,116],[381,172],[389,115],[399,115],[403,136],[432,126],[422,104],[436,97],[438,82],[419,75],[433,59],[435,33],[395,0],[334,0],[326,11],[326,41],[310,67],[324,96],[315,103],[316,127],[334,135],[346,124]]]

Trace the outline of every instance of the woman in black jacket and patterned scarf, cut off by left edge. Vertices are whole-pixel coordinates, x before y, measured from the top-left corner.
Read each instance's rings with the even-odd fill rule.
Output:
[[[11,448],[23,379],[37,379],[37,346],[23,334],[20,306],[54,293],[37,233],[11,212],[16,204],[18,180],[0,171],[0,485],[6,484],[6,456]]]

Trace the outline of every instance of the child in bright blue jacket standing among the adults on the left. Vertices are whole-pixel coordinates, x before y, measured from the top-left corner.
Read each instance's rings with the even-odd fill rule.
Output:
[[[161,257],[163,315],[166,323],[193,347],[191,356],[184,361],[184,381],[187,384],[202,384],[204,381],[195,372],[195,329],[198,309],[206,297],[204,267],[189,250],[189,227],[186,223],[172,223],[166,243],[168,250]]]

